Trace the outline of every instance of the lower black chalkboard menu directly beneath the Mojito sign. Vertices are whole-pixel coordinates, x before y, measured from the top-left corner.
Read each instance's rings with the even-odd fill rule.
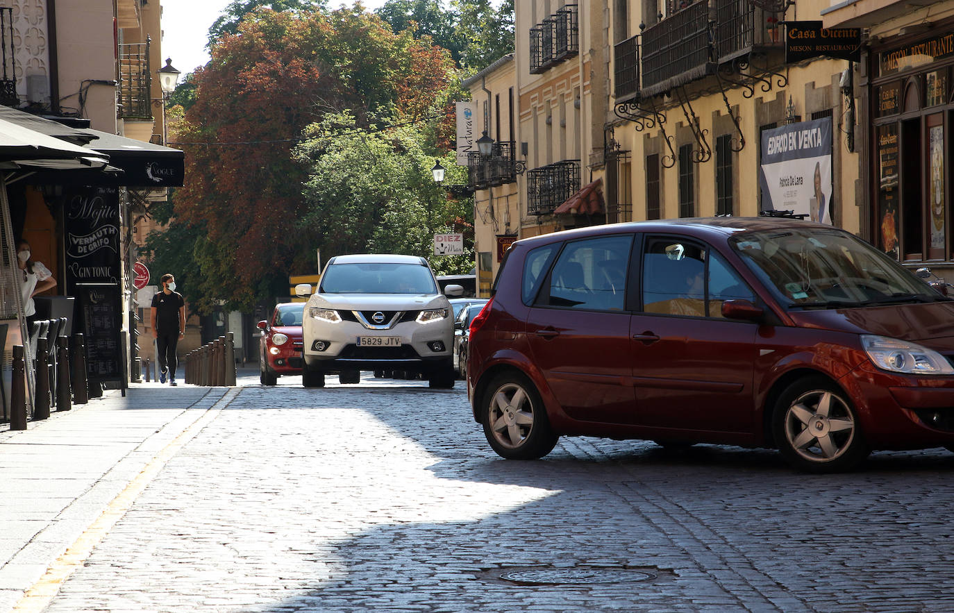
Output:
[[[119,285],[79,284],[76,294],[83,322],[87,379],[91,383],[117,381],[125,389]]]

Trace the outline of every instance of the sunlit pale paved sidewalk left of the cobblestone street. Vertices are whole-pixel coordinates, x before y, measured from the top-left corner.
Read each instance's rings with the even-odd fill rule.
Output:
[[[235,388],[135,383],[0,430],[0,611],[47,574],[161,452]],[[119,412],[123,412],[120,415]]]

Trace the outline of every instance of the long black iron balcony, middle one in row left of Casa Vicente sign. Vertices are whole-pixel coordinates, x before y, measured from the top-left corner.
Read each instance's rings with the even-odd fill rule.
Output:
[[[715,72],[709,2],[699,0],[642,34],[642,95],[666,93]]]

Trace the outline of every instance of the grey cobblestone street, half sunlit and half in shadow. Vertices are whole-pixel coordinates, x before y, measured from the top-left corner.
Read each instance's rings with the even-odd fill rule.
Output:
[[[506,461],[460,383],[292,381],[190,409],[46,610],[954,610],[943,449],[834,477],[603,439]]]

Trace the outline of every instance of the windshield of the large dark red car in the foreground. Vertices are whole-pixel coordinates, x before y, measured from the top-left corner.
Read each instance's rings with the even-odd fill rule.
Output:
[[[785,228],[733,236],[732,247],[788,308],[844,308],[946,300],[855,235]]]

